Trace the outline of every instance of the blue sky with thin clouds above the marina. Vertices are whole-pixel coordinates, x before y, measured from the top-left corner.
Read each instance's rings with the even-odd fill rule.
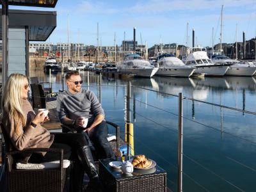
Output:
[[[135,27],[138,44],[147,47],[160,42],[186,45],[187,31],[191,47],[193,29],[195,44],[211,47],[220,43],[222,5],[222,42],[243,42],[243,31],[246,40],[255,38],[256,0],[58,0],[55,8],[10,9],[56,11],[57,27],[46,41],[53,44],[67,43],[69,17],[70,43],[97,45],[98,23],[102,46],[132,40]]]

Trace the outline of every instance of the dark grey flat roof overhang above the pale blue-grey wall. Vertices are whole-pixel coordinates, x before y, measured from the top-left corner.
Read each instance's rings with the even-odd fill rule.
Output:
[[[9,10],[9,28],[28,26],[29,41],[45,41],[56,28],[56,15],[56,12]],[[2,25],[0,25],[0,39],[2,39],[1,33]]]

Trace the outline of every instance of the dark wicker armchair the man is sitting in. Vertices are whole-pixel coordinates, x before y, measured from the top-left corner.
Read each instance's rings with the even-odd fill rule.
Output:
[[[116,138],[114,140],[109,141],[109,143],[113,149],[118,149],[120,147],[120,126],[109,121],[106,121],[106,123],[108,125],[111,125],[111,127],[115,128]],[[62,132],[73,132],[73,133],[77,132],[76,129],[69,127],[67,125],[61,125],[61,127],[62,127]]]

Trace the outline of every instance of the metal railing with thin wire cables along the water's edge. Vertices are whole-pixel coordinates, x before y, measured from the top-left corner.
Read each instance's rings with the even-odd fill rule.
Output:
[[[90,84],[89,80],[90,80],[91,77],[95,78],[94,79],[95,83]],[[221,129],[218,129],[218,128],[214,127],[213,125],[207,125],[204,122],[200,122],[200,121],[195,120],[193,118],[188,118],[188,117],[184,116],[183,115],[183,108],[184,108],[183,102],[184,102],[184,100],[187,100],[187,101],[190,101],[190,102],[193,102],[193,103],[197,102],[197,103],[205,104],[207,106],[214,106],[216,108],[227,109],[227,110],[236,111],[236,112],[239,112],[239,113],[245,113],[245,114],[248,114],[248,115],[256,115],[255,112],[247,111],[247,110],[244,110],[244,109],[232,108],[232,107],[224,106],[224,105],[221,105],[221,104],[214,104],[212,102],[206,102],[204,100],[197,100],[197,99],[192,99],[192,98],[189,98],[189,97],[184,97],[182,95],[182,93],[179,93],[179,95],[175,95],[175,94],[170,94],[170,93],[159,92],[159,91],[152,90],[152,89],[149,89],[149,88],[143,88],[143,87],[140,87],[140,86],[134,86],[134,85],[131,84],[131,82],[129,82],[127,84],[122,84],[122,85],[116,85],[116,84],[115,85],[109,85],[109,84],[106,85],[106,84],[102,84],[101,74],[99,76],[95,76],[94,74],[90,75],[89,72],[87,72],[87,75],[82,76],[82,78],[87,79],[87,88],[88,89],[89,88],[97,88],[99,90],[98,98],[99,98],[100,102],[102,102],[102,88],[111,87],[111,86],[115,87],[115,88],[122,87],[126,91],[126,93],[125,93],[125,100],[126,100],[126,104],[125,104],[125,115],[126,115],[125,120],[126,121],[125,121],[125,123],[128,126],[126,127],[126,130],[123,131],[122,133],[123,133],[124,137],[126,135],[125,138],[127,138],[126,141],[129,145],[129,147],[127,147],[127,153],[130,153],[129,152],[130,148],[131,148],[132,151],[134,151],[134,153],[136,153],[136,150],[135,150],[134,146],[131,146],[131,144],[129,144],[130,138],[132,138],[132,140],[136,141],[137,143],[140,143],[140,145],[143,145],[145,148],[147,148],[148,151],[152,152],[152,154],[161,158],[164,161],[164,163],[168,164],[169,166],[171,166],[172,168],[177,170],[177,175],[178,175],[177,184],[175,182],[173,182],[173,180],[170,180],[168,178],[168,181],[171,184],[177,185],[177,191],[184,191],[184,189],[182,188],[182,181],[183,181],[183,179],[182,179],[183,176],[182,175],[184,175],[184,177],[186,177],[187,179],[191,180],[191,182],[193,182],[196,186],[198,186],[198,188],[202,189],[202,191],[211,191],[211,189],[207,189],[207,187],[205,187],[204,184],[198,182],[195,178],[193,178],[193,176],[191,174],[187,173],[186,170],[185,170],[185,172],[184,172],[184,170],[182,170],[182,162],[183,162],[182,160],[184,160],[183,157],[185,157],[186,160],[189,160],[191,163],[195,164],[196,166],[200,167],[205,172],[211,173],[211,175],[214,175],[215,177],[218,177],[218,179],[220,179],[223,182],[227,183],[228,185],[232,186],[237,191],[244,191],[242,188],[239,188],[239,186],[237,186],[236,183],[234,183],[234,182],[228,180],[227,178],[223,177],[220,173],[217,173],[214,170],[211,170],[211,168],[207,168],[207,166],[205,166],[204,164],[196,161],[196,159],[189,156],[189,154],[186,154],[186,153],[184,154],[183,153],[183,144],[182,144],[183,141],[194,142],[193,139],[186,136],[186,134],[183,134],[183,130],[182,130],[183,125],[184,125],[183,120],[186,120],[188,122],[195,123],[195,124],[198,124],[198,125],[202,125],[202,126],[207,127],[207,128],[209,128],[213,131],[221,132],[221,134],[225,133],[225,134],[227,134],[228,136],[230,136],[232,138],[236,138],[239,141],[244,141],[244,142],[250,143],[252,145],[254,145],[256,143],[256,141],[250,140],[250,138],[244,138],[244,137],[239,136],[237,134],[234,134],[232,132],[223,131]],[[136,99],[136,97],[131,97],[131,92],[134,88],[145,90],[145,91],[148,91],[148,92],[154,92],[154,93],[161,94],[161,95],[168,95],[170,97],[177,98],[177,99],[179,98],[179,104],[177,105],[179,107],[179,110],[177,110],[177,113],[173,113],[172,111],[168,111],[167,109],[162,109],[159,106],[156,106],[154,104],[148,104],[148,102],[143,102],[142,100],[138,100],[138,99]],[[104,94],[103,94],[103,96],[104,96]],[[107,99],[107,98],[103,97],[103,99]],[[134,109],[131,108],[131,100],[133,100],[135,103],[138,102],[138,103],[143,104],[145,106],[149,106],[150,108],[154,108],[154,109],[157,109],[159,111],[163,111],[163,113],[168,113],[170,115],[177,116],[177,124],[178,124],[177,127],[178,127],[178,129],[175,129],[173,127],[167,127],[166,125],[163,125],[163,124],[160,124],[159,122],[157,122],[157,120],[154,120],[153,118],[147,117],[147,115],[145,115],[146,113],[142,114],[142,113],[139,113],[138,111],[135,111]],[[156,124],[156,125],[159,125],[161,127],[164,127],[164,129],[167,129],[168,131],[172,131],[172,132],[174,132],[175,134],[178,135],[179,140],[177,140],[177,144],[178,144],[177,145],[178,146],[178,148],[177,148],[177,151],[178,151],[177,165],[175,165],[175,163],[173,163],[173,162],[168,161],[168,159],[165,159],[163,155],[159,154],[159,152],[156,152],[156,151],[152,150],[152,148],[148,147],[147,145],[145,145],[145,143],[141,142],[141,140],[139,138],[134,138],[134,136],[131,134],[131,131],[129,131],[129,128],[130,128],[129,125],[132,123],[132,121],[131,121],[131,112],[140,116],[145,121],[149,121],[149,122],[152,122],[152,124]],[[140,125],[136,124],[136,127],[142,129],[142,127],[140,127]],[[134,127],[132,125],[132,129],[133,128]],[[163,145],[164,145],[164,143],[163,143]],[[207,146],[205,146],[205,148],[207,150],[211,150],[212,152],[215,152],[219,156],[225,157],[226,159],[228,159],[228,161],[231,161],[234,164],[239,164],[239,166],[242,166],[243,168],[246,168],[247,170],[250,170],[251,172],[256,173],[255,168],[253,168],[252,166],[250,166],[248,164],[244,164],[243,162],[237,160],[236,158],[234,158],[232,156],[227,156],[226,154],[223,154],[222,152],[216,150],[215,148],[212,149],[211,147],[207,147]]]

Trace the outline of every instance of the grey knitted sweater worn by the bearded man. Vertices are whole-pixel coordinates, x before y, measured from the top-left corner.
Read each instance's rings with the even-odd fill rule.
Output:
[[[92,124],[95,116],[104,115],[96,95],[91,90],[83,90],[83,88],[78,93],[70,93],[68,90],[61,92],[57,97],[57,112],[61,123],[65,117],[76,120],[84,116],[89,118],[89,125]]]

